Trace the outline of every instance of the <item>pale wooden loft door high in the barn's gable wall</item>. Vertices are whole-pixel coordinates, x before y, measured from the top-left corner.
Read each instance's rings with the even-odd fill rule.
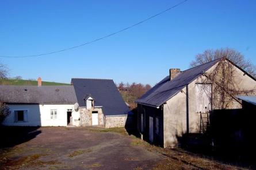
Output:
[[[212,109],[211,95],[211,84],[196,84],[197,113],[207,113],[209,110]]]

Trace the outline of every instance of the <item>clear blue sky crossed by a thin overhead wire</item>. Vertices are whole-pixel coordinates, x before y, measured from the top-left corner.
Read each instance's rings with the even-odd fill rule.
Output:
[[[180,1],[0,1],[0,56],[40,54],[123,29]],[[205,49],[234,48],[256,64],[256,1],[189,0],[142,25],[81,48],[0,58],[10,77],[111,78],[154,85]]]

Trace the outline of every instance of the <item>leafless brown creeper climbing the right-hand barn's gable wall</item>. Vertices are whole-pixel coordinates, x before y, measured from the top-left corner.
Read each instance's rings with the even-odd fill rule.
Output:
[[[211,99],[213,109],[231,108],[234,102],[240,101],[236,98],[239,95],[251,95],[256,93],[256,89],[244,89],[240,86],[242,79],[236,75],[236,69],[226,58],[221,58],[216,68],[211,72],[205,72],[201,76],[202,84],[205,84],[205,92],[207,85],[212,84],[212,93],[208,93]]]

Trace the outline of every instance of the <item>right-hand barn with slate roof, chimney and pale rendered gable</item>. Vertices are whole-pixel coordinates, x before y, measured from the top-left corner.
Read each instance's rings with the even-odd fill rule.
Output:
[[[205,81],[205,75],[213,72],[221,60],[214,60],[194,68],[184,70],[170,69],[169,76],[148,90],[137,103],[137,128],[144,140],[161,145],[175,147],[179,137],[187,133],[202,133],[208,125],[212,105],[213,85]],[[232,65],[235,81],[239,89],[255,89],[256,81]],[[234,98],[232,108],[241,108]]]

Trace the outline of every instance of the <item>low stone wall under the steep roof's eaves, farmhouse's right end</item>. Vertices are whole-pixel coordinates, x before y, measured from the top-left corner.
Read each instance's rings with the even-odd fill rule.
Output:
[[[124,127],[127,115],[124,116],[105,116],[105,128]]]

